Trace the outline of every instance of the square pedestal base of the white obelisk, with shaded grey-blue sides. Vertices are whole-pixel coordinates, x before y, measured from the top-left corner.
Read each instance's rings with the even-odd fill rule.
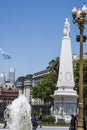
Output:
[[[73,89],[58,89],[52,97],[54,98],[53,115],[56,117],[56,122],[59,119],[70,122],[71,114],[77,114],[77,92]]]

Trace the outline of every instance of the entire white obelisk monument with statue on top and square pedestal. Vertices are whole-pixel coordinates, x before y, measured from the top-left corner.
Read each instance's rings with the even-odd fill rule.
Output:
[[[54,98],[54,115],[56,119],[61,119],[62,115],[62,118],[66,122],[70,121],[71,114],[76,115],[77,112],[77,92],[73,89],[75,82],[73,77],[72,51],[69,33],[70,23],[66,18],[63,30],[59,74],[57,81],[58,89],[52,96]],[[55,114],[56,110],[58,111],[57,115]]]

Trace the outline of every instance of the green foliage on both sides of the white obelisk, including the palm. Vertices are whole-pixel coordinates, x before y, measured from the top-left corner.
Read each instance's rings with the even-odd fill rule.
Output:
[[[59,70],[59,58],[55,58],[49,62],[49,67],[51,72],[44,78],[44,80],[37,84],[37,86],[32,88],[32,97],[35,99],[41,99],[45,103],[53,102],[53,98],[50,95],[54,94],[56,90],[57,78],[58,78],[58,70]],[[75,81],[75,90],[79,91],[79,63],[77,60],[73,64],[74,68],[74,81]],[[83,61],[83,92],[84,97],[87,97],[87,59]]]

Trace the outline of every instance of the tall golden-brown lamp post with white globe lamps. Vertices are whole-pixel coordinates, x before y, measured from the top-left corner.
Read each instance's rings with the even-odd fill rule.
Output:
[[[79,71],[79,114],[78,114],[78,130],[83,130],[83,42],[87,37],[83,35],[85,24],[87,24],[87,7],[83,5],[82,9],[72,9],[73,23],[78,24],[80,35],[77,35],[76,40],[80,42],[80,71]]]

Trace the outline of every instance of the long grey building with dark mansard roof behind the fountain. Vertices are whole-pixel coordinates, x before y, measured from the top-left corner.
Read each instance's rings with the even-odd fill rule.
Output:
[[[33,103],[31,97],[31,88],[42,82],[44,77],[47,76],[49,72],[50,69],[47,68],[46,70],[42,70],[34,74],[18,77],[16,80],[16,88],[19,90],[19,95],[25,94],[25,96],[28,98],[28,101]]]

